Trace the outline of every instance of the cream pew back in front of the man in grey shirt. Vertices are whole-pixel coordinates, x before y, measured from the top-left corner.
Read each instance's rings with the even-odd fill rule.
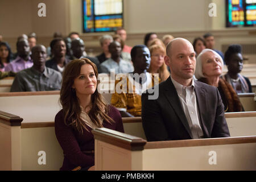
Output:
[[[110,104],[112,94],[102,96]],[[61,110],[59,98],[60,91],[0,93],[0,110],[19,115],[23,123],[52,122]]]

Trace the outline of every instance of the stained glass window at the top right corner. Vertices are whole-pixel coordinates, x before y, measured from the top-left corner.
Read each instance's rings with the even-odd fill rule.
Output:
[[[256,0],[226,0],[226,27],[256,26]]]

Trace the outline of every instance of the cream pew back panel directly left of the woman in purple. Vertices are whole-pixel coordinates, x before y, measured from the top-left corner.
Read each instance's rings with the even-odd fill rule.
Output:
[[[22,171],[57,171],[62,166],[63,150],[56,139],[54,126],[22,126],[21,146]],[[45,152],[46,163],[43,163],[44,154],[40,152]]]

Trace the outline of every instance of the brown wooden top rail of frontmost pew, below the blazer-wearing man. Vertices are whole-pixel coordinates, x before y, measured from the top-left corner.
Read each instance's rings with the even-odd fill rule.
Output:
[[[213,146],[213,145],[221,145],[221,144],[238,144],[238,143],[256,143],[256,136],[147,142],[146,145],[144,146],[144,149]]]

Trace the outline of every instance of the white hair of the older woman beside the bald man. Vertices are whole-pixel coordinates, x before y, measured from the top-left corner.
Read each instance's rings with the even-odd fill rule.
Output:
[[[215,51],[213,51],[212,49],[204,49],[197,57],[196,57],[196,71],[195,71],[195,77],[197,79],[200,78],[204,78],[204,74],[203,74],[203,60],[202,60],[202,56],[204,55],[205,52],[212,52],[214,53],[215,56],[218,57],[218,59],[220,59],[221,61],[221,67],[224,67],[224,62],[222,57]]]

